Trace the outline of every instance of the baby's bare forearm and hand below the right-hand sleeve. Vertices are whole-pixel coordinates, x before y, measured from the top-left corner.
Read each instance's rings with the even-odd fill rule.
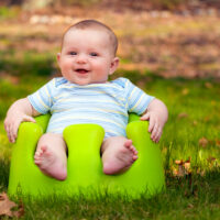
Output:
[[[141,117],[141,120],[148,120],[148,132],[154,142],[158,142],[163,132],[163,128],[168,119],[168,111],[164,102],[153,99],[147,110]]]

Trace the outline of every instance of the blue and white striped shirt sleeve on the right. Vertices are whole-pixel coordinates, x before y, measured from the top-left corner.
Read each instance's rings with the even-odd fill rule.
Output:
[[[136,114],[144,113],[154,97],[145,94],[129,79],[127,79],[124,88],[127,94],[128,111]]]

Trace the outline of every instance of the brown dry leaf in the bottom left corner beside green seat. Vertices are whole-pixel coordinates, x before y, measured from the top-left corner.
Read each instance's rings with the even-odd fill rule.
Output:
[[[0,217],[1,216],[8,216],[8,217],[18,217],[24,215],[24,208],[23,205],[19,206],[18,211],[12,211],[11,209],[18,207],[18,205],[13,201],[11,201],[6,193],[0,194]]]

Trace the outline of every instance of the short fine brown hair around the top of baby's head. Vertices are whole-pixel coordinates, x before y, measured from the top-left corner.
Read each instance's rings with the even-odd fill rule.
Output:
[[[99,29],[99,30],[103,30],[108,33],[109,35],[109,38],[110,38],[110,42],[113,46],[113,53],[114,55],[117,54],[117,50],[118,50],[118,38],[116,36],[116,34],[113,33],[113,31],[107,26],[106,24],[99,22],[99,21],[96,21],[96,20],[84,20],[84,21],[80,21],[72,26],[69,26],[64,35],[63,35],[63,38],[62,38],[62,47],[63,47],[63,42],[64,42],[64,37],[66,35],[66,33],[70,30],[74,30],[74,29],[80,29],[80,30],[86,30],[86,29]]]

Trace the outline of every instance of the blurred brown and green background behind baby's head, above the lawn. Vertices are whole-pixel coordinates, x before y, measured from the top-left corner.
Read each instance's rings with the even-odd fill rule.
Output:
[[[52,76],[63,31],[97,19],[116,31],[122,69],[219,78],[219,0],[0,0],[0,77]]]

